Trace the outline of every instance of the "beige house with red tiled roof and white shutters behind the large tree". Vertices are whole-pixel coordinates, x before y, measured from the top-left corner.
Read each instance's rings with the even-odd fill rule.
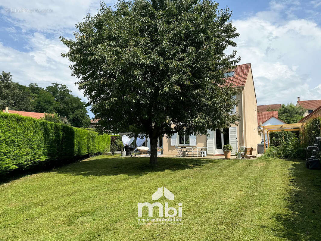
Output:
[[[239,105],[235,111],[239,113],[238,125],[224,129],[222,133],[218,129],[208,130],[209,136],[190,135],[180,136],[177,133],[171,138],[163,138],[163,153],[177,154],[176,146],[207,147],[207,154],[223,154],[223,145],[230,144],[233,147],[232,154],[239,150],[240,146],[253,147],[261,143],[261,137],[257,131],[257,102],[252,76],[251,64],[238,65],[236,69],[225,73],[226,84],[240,90],[236,96]]]

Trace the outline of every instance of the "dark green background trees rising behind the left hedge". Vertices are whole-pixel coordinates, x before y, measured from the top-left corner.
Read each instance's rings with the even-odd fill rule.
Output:
[[[0,74],[0,108],[5,106],[16,111],[57,113],[63,122],[70,122],[74,127],[88,127],[90,124],[85,103],[66,85],[52,83],[46,89],[36,83],[19,85],[13,82],[10,73],[3,71]]]

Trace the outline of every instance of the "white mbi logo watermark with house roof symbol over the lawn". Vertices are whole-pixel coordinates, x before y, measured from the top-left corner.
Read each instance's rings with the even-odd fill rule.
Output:
[[[162,196],[168,200],[174,200],[175,196],[170,192],[166,187],[159,187],[157,191],[153,193],[152,200],[158,200]],[[160,202],[139,202],[138,203],[138,217],[143,217],[143,207],[148,209],[148,217],[153,217],[154,207],[158,207],[158,218],[147,218],[147,219],[138,219],[138,222],[180,222],[182,221],[182,203],[178,203],[178,209],[168,206],[168,202],[165,202],[165,218],[164,218],[164,206]],[[144,210],[147,210],[144,209]],[[177,217],[178,216],[178,217]],[[158,223],[159,224],[159,223]],[[173,223],[174,224],[174,223]],[[175,223],[182,224],[182,223]]]

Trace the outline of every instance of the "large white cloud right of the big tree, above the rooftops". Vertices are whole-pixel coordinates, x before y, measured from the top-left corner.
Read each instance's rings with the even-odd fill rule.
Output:
[[[321,99],[320,26],[306,19],[275,21],[282,6],[271,6],[274,19],[267,11],[233,21],[241,63],[252,64],[258,104]]]

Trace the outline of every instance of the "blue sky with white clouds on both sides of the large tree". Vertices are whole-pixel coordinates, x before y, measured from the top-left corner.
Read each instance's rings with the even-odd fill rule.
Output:
[[[43,2],[0,2],[0,71],[11,72],[22,85],[65,84],[86,101],[74,85],[69,60],[61,57],[68,49],[59,36],[73,38],[75,24],[97,13],[100,3]],[[231,21],[240,34],[236,50],[240,64],[251,63],[258,105],[295,104],[299,96],[321,99],[321,0],[217,2],[233,11]]]

